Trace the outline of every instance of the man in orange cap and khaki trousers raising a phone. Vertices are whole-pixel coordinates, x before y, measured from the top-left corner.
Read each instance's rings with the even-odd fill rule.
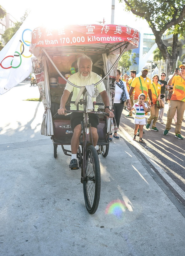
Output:
[[[183,114],[185,110],[185,63],[179,66],[179,69],[175,69],[173,76],[168,80],[168,85],[173,86],[173,93],[171,96],[170,106],[167,113],[167,124],[166,130],[163,134],[167,135],[168,131],[171,129],[172,118],[177,110],[177,124],[175,126],[175,137],[183,140],[181,136],[181,125],[183,121]]]

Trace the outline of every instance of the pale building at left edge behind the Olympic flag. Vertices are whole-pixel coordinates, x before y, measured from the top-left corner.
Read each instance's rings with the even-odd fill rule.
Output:
[[[4,9],[2,6],[1,8]],[[15,22],[17,22],[17,20],[10,13],[6,13],[6,16],[3,19],[0,19],[0,41],[2,42],[2,44],[4,44],[4,41],[2,40],[2,35],[5,33],[5,30],[7,28],[14,27]]]

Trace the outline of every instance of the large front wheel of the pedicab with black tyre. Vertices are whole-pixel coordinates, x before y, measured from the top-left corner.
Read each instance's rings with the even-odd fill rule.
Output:
[[[86,151],[86,170],[84,185],[85,206],[90,214],[94,214],[100,201],[101,174],[97,150],[90,145]]]

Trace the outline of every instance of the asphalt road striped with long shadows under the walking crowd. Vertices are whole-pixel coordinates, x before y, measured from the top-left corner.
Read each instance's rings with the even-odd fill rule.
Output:
[[[129,143],[138,148],[138,152],[148,158],[151,165],[153,161],[158,164],[158,167],[155,166],[155,171],[168,184],[179,201],[185,205],[185,121],[183,121],[181,129],[184,140],[175,138],[174,121],[172,122],[170,132],[168,132],[167,136],[164,136],[163,131],[167,121],[167,110],[168,105],[165,104],[164,124],[157,122],[158,132],[151,131],[150,128],[147,130],[145,127],[143,138],[146,144],[132,140],[134,134],[134,115],[132,118],[125,118],[125,115],[128,114],[127,110],[122,112],[120,128]],[[149,114],[146,118],[148,117]],[[137,136],[138,139],[139,137]]]

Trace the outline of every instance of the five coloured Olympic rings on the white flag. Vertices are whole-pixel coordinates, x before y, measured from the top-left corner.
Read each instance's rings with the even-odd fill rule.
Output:
[[[14,56],[13,56],[13,55],[9,55],[9,56],[6,56],[6,57],[3,59],[3,60],[5,60],[5,59],[7,59],[7,58],[19,57],[19,58],[20,58],[19,65],[16,66],[16,67],[13,67],[13,66],[12,66],[12,62],[13,62],[14,59],[12,59],[12,61],[11,61],[9,67],[3,67],[3,65],[2,65],[3,60],[2,60],[1,63],[0,63],[0,66],[1,66],[2,68],[4,68],[4,69],[18,68],[18,67],[20,67],[20,65],[21,65],[21,63],[22,63],[22,57],[21,57],[21,55],[22,55],[24,58],[30,58],[30,57],[32,56],[32,54],[29,55],[29,56],[25,56],[25,55],[23,54],[23,52],[24,52],[24,44],[25,44],[26,46],[30,46],[30,44],[31,44],[31,42],[26,41],[26,40],[24,41],[24,39],[23,39],[24,32],[27,31],[27,30],[29,30],[29,31],[32,32],[32,30],[29,29],[29,28],[27,28],[27,29],[25,29],[25,30],[23,31],[23,34],[22,34],[22,40],[23,40],[23,41],[19,40],[19,42],[21,42],[21,45],[20,45],[20,53],[19,53],[18,51],[15,51]],[[27,44],[27,43],[28,43],[28,44]]]

